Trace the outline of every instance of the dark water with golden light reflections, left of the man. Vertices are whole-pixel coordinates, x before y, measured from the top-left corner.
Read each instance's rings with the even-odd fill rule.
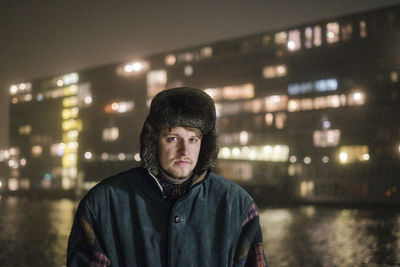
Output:
[[[0,199],[0,265],[65,266],[74,208],[67,199]]]

